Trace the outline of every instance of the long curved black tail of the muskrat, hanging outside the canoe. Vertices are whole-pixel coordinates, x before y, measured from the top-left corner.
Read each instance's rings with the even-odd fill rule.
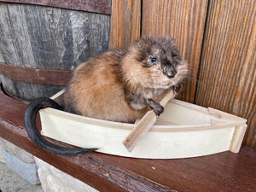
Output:
[[[36,125],[36,117],[38,111],[43,108],[55,108],[60,109],[59,104],[48,97],[40,97],[32,100],[26,108],[24,113],[24,124],[28,137],[32,140],[33,143],[36,143],[38,147],[43,148],[45,151],[48,151],[52,154],[61,154],[61,155],[75,155],[75,154],[84,154],[91,151],[95,151],[97,148],[64,148],[53,143],[49,143],[44,137],[39,133]]]

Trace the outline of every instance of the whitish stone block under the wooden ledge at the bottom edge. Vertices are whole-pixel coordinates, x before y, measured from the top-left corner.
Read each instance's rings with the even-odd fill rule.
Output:
[[[54,166],[50,166],[35,157],[38,165],[38,176],[40,178],[44,192],[97,192],[98,190],[91,188],[86,183],[61,172]]]

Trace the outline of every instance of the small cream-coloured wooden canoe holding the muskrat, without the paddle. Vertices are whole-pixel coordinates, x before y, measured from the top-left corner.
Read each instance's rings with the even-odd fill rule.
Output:
[[[61,90],[52,96],[63,99]],[[153,127],[130,153],[123,145],[135,124],[92,119],[53,108],[40,110],[42,135],[81,148],[125,157],[177,159],[216,154],[230,150],[238,153],[245,135],[246,119],[213,108],[172,100]]]

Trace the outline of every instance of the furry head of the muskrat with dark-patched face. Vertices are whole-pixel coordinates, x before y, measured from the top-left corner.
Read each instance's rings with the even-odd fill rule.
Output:
[[[126,79],[144,88],[169,89],[181,84],[188,64],[173,38],[144,37],[128,48],[123,60]]]

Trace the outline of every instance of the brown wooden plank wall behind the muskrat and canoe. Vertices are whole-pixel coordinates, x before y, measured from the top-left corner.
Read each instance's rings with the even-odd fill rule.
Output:
[[[244,143],[256,147],[256,1],[139,2],[112,1],[111,29],[115,32],[110,47],[127,46],[142,35],[176,38],[190,67],[178,98],[247,119]]]

